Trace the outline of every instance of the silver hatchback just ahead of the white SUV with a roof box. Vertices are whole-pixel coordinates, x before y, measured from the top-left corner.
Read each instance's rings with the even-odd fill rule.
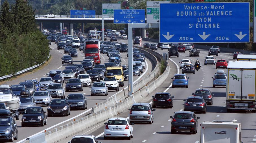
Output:
[[[91,96],[95,94],[104,94],[105,96],[108,95],[108,86],[105,82],[94,82],[93,86],[91,87]]]

